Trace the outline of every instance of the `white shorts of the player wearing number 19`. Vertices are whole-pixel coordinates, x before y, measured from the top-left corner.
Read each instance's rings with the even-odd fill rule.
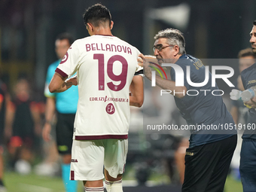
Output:
[[[70,179],[98,181],[104,178],[103,165],[109,175],[123,174],[128,139],[73,140]]]

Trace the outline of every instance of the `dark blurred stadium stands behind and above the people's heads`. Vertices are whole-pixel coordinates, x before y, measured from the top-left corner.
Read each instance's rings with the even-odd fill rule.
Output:
[[[156,32],[174,27],[184,32],[187,53],[202,59],[236,58],[239,50],[250,47],[249,32],[256,19],[254,0],[1,0],[0,78],[10,92],[17,79],[25,77],[36,99],[44,101],[47,67],[56,60],[56,35],[87,36],[82,14],[97,2],[111,11],[113,35],[146,54],[152,54]],[[237,65],[233,68],[238,75]]]

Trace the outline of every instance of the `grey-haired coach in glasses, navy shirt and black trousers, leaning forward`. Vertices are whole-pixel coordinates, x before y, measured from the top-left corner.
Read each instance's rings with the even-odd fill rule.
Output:
[[[185,155],[182,191],[223,191],[233,151],[236,148],[237,136],[233,118],[227,111],[222,97],[212,94],[213,90],[219,89],[217,86],[212,87],[210,72],[208,83],[202,87],[192,87],[187,83],[187,66],[190,67],[190,80],[194,83],[205,80],[206,70],[200,59],[186,54],[182,33],[177,29],[165,29],[158,32],[154,39],[155,58],[140,55],[144,59],[145,76],[149,80],[152,79],[149,65],[153,61],[160,65],[175,63],[181,67],[184,72],[184,86],[175,86],[175,69],[173,68],[170,69],[171,79],[162,79],[156,75],[156,84],[163,90],[171,91],[175,104],[187,124],[195,127],[218,127],[227,123],[231,125],[230,130],[190,130],[190,145]],[[197,90],[198,94],[191,96],[187,94],[189,90]]]

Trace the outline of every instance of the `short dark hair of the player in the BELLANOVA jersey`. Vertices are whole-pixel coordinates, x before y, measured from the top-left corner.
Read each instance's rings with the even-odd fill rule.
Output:
[[[108,8],[104,5],[96,4],[87,8],[84,11],[84,25],[87,26],[87,23],[92,23],[93,26],[99,26],[100,23],[105,23],[108,21],[109,26],[111,26],[111,14]]]

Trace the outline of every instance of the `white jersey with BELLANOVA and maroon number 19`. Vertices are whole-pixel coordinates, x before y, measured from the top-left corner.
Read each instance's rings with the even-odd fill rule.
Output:
[[[93,35],[72,44],[56,72],[63,77],[78,75],[73,139],[127,139],[129,87],[142,70],[139,53],[136,47],[109,35]]]

